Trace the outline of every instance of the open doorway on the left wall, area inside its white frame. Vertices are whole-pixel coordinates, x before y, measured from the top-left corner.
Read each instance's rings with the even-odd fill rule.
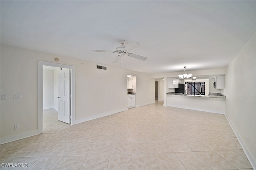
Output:
[[[66,117],[62,115],[62,113],[65,113],[63,111],[64,109],[70,109],[70,100],[68,98],[68,102],[62,102],[63,100],[61,99],[63,95],[60,96],[60,94],[64,90],[64,88],[62,88],[63,85],[66,85],[68,88],[69,97],[70,78],[68,78],[68,82],[66,84],[63,83],[63,81],[60,81],[61,71],[68,72],[67,76],[69,76],[70,70],[68,68],[45,65],[43,66],[43,131],[49,130],[49,127],[54,127],[65,123],[70,124],[70,110],[66,112],[66,114],[68,114],[66,115]],[[63,85],[61,84],[60,86],[60,82]],[[60,88],[62,88],[62,90],[60,90]],[[60,109],[62,112],[60,111]]]

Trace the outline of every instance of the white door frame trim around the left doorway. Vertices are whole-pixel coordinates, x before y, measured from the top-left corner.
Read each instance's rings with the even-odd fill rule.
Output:
[[[75,121],[75,66],[38,61],[38,133],[43,132],[43,66],[54,66],[70,69],[70,124]]]

